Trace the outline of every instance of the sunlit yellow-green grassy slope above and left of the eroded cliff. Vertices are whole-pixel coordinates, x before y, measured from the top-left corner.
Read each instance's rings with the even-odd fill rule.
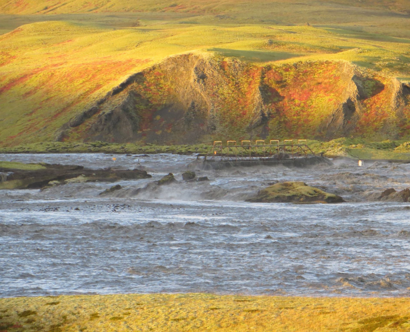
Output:
[[[404,0],[57,2],[0,1],[0,32],[14,29],[0,35],[1,146],[53,140],[126,77],[184,52],[344,60],[410,80]]]

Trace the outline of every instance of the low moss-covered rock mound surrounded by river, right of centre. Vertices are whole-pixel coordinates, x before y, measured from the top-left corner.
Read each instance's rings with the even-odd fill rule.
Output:
[[[282,182],[259,191],[248,202],[260,203],[342,203],[344,199],[304,182]]]

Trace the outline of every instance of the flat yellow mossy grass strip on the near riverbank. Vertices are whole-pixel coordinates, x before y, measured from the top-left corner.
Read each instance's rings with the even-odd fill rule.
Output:
[[[17,331],[409,331],[410,299],[94,295],[0,299],[0,326]]]

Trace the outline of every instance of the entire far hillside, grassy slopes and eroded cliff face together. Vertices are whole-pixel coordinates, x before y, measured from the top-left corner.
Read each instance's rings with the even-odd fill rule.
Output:
[[[407,3],[0,0],[0,145],[407,138]]]

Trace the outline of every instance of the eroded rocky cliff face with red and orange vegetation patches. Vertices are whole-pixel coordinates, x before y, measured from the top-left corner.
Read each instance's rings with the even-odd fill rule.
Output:
[[[410,86],[347,62],[254,66],[182,54],[130,76],[58,140],[158,144],[212,139],[398,138]]]

